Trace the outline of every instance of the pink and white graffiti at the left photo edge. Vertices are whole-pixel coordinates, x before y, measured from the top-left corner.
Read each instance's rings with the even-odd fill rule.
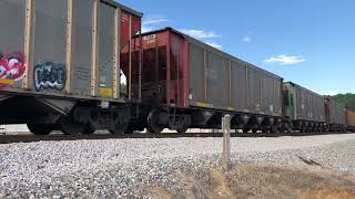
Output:
[[[3,54],[0,52],[0,88],[20,81],[24,75],[26,67],[23,53]]]

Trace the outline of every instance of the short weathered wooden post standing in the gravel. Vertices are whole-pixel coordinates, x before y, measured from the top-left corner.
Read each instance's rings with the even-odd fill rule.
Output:
[[[231,169],[231,115],[224,115],[222,118],[223,129],[223,153],[222,165],[224,170]]]

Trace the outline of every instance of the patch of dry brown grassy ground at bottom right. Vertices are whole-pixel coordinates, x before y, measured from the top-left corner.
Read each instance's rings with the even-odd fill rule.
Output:
[[[300,168],[258,167],[237,165],[230,171],[214,168],[181,172],[184,187],[150,188],[153,198],[215,199],[215,198],[298,198],[351,199],[355,198],[355,175],[323,169],[316,166]]]

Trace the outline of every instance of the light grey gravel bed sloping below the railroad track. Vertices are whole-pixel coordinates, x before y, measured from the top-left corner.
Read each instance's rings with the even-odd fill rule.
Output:
[[[231,138],[232,161],[355,174],[355,135]],[[179,190],[176,171],[220,164],[222,138],[112,139],[0,145],[0,198],[138,197]]]

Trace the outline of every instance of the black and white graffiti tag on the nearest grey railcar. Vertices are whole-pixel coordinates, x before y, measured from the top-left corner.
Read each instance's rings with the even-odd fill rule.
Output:
[[[65,87],[67,82],[65,65],[52,62],[42,62],[34,66],[33,80],[37,91],[62,91]]]

